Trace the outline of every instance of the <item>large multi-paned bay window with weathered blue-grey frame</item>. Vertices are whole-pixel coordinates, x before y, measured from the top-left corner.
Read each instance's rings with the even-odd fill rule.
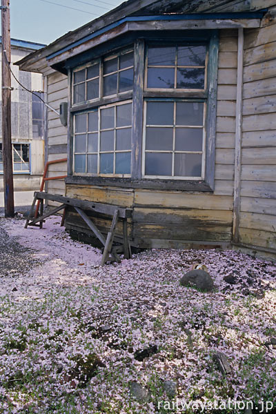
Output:
[[[139,39],[72,70],[72,176],[210,190],[217,43]]]

